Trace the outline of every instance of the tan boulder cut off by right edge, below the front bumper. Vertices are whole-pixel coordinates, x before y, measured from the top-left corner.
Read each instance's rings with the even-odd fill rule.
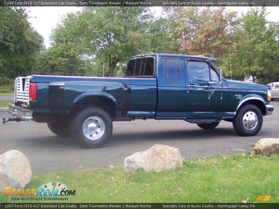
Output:
[[[254,147],[255,154],[279,154],[279,138],[262,138]]]

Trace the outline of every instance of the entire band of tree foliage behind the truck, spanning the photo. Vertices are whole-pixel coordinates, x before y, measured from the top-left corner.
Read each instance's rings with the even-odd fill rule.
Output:
[[[51,47],[42,49],[26,12],[0,7],[0,77],[103,76],[103,67],[105,76],[121,76],[133,55],[181,53],[216,57],[229,77],[231,66],[233,79],[279,80],[279,26],[266,20],[264,7],[240,18],[224,7],[163,10],[156,19],[148,7],[85,7],[67,14],[51,34]]]

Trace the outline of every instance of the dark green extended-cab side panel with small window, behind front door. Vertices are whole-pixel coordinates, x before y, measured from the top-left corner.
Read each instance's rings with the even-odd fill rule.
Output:
[[[185,111],[183,57],[158,56],[157,117],[181,117]]]

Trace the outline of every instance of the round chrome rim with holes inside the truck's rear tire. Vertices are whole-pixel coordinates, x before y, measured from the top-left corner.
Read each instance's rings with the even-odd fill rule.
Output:
[[[83,123],[83,134],[90,140],[96,140],[103,136],[105,133],[105,123],[99,117],[90,117]]]

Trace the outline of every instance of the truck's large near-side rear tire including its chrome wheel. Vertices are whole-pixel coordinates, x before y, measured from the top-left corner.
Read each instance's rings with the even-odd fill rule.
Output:
[[[107,112],[88,107],[77,112],[69,121],[69,134],[86,148],[103,146],[112,134],[112,121]]]

